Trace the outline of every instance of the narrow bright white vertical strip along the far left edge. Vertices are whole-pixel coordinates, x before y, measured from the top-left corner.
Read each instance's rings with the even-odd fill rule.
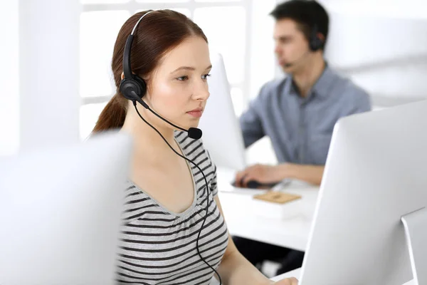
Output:
[[[19,147],[18,1],[0,2],[0,156]]]

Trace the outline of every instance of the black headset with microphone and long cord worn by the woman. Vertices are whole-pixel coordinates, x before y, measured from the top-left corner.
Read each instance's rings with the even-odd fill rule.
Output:
[[[208,184],[208,180],[206,180],[206,176],[204,175],[204,172],[201,170],[199,165],[197,165],[196,162],[194,162],[193,160],[189,160],[184,155],[180,155],[178,152],[176,152],[176,150],[174,150],[174,147],[172,147],[172,145],[169,144],[169,142],[164,138],[162,133],[160,133],[159,130],[154,128],[153,125],[148,123],[147,120],[142,118],[142,115],[139,113],[139,111],[137,109],[137,102],[138,102],[142,106],[144,106],[144,108],[146,108],[151,113],[156,115],[158,118],[164,120],[164,122],[168,123],[169,125],[172,125],[174,128],[177,128],[179,130],[187,132],[189,138],[192,138],[194,140],[199,140],[199,138],[201,138],[202,133],[201,133],[201,130],[199,128],[189,128],[189,130],[185,130],[184,128],[181,128],[177,125],[174,125],[173,123],[169,122],[169,120],[166,120],[161,115],[158,115],[157,113],[155,113],[151,108],[149,108],[149,105],[147,105],[147,103],[145,103],[144,100],[142,100],[142,97],[144,97],[145,93],[147,93],[147,83],[145,83],[144,79],[142,79],[139,76],[137,76],[136,74],[132,73],[132,68],[130,66],[130,50],[132,48],[132,41],[133,41],[133,37],[134,37],[133,35],[135,33],[135,30],[137,29],[139,22],[142,20],[142,18],[144,18],[144,16],[147,16],[150,13],[152,13],[152,11],[148,11],[147,13],[142,15],[141,18],[139,18],[139,20],[137,21],[137,24],[135,24],[134,28],[132,29],[132,33],[130,33],[130,35],[127,37],[127,40],[125,43],[125,50],[123,51],[123,73],[125,75],[125,78],[123,78],[122,81],[120,82],[120,86],[119,86],[120,92],[123,94],[123,96],[125,96],[125,98],[132,101],[132,103],[135,107],[135,110],[137,111],[137,114],[139,115],[139,118],[141,118],[145,123],[147,123],[147,125],[149,125],[153,130],[155,130],[156,133],[158,133],[162,137],[164,142],[166,142],[166,144],[169,146],[169,148],[176,155],[178,155],[179,157],[182,157],[184,160],[187,160],[188,162],[191,162],[194,166],[196,166],[199,169],[199,171],[203,175],[204,181],[206,184],[206,214],[205,214],[203,222],[201,223],[199,234],[197,235],[196,249],[197,249],[197,253],[199,254],[199,257],[201,258],[201,260],[204,261],[204,263],[214,271],[216,276],[218,276],[219,284],[221,285],[222,284],[221,276],[219,276],[218,272],[214,269],[214,267],[212,267],[201,256],[200,249],[199,249],[199,238],[200,238],[201,230],[204,227],[204,224],[206,222],[206,218],[208,217],[208,211],[209,211],[209,184]],[[214,199],[214,198],[212,197],[212,199]]]

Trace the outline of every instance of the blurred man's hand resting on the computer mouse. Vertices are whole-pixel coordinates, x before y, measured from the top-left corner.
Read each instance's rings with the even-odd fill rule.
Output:
[[[248,182],[255,180],[260,183],[280,182],[287,177],[285,165],[252,165],[236,174],[236,186],[247,187]]]

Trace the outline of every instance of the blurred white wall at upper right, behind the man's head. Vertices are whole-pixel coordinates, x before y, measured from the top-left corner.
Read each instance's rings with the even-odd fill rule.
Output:
[[[322,0],[330,12],[326,58],[391,106],[427,98],[427,11],[418,0]]]

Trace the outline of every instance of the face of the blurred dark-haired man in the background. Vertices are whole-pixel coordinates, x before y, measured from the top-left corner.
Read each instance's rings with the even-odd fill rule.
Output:
[[[309,51],[308,41],[295,21],[291,19],[276,21],[273,38],[278,63],[285,73],[293,73],[304,65],[307,58],[305,54]],[[291,63],[292,66],[287,66]]]

